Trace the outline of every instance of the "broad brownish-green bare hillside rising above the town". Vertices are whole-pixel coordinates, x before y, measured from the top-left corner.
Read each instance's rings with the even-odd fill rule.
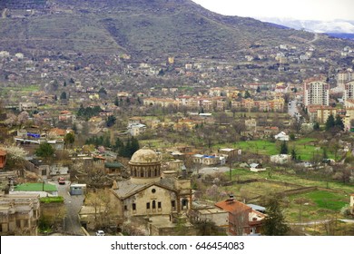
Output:
[[[5,0],[0,8],[0,50],[33,54],[227,59],[254,45],[302,48],[314,39],[308,32],[217,15],[190,0]],[[313,44],[324,51],[354,45],[326,35]]]

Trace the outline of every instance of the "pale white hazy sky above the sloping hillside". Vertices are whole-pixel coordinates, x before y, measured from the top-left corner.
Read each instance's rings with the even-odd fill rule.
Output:
[[[354,20],[354,0],[192,0],[221,15]]]

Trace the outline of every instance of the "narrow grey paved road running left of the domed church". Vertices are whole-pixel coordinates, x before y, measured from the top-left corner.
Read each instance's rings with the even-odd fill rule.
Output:
[[[78,213],[83,205],[84,195],[69,194],[70,181],[65,181],[64,185],[60,185],[57,182],[59,196],[64,197],[64,204],[66,207],[66,216],[64,218],[64,231],[68,235],[84,236],[83,230],[81,230],[81,224],[78,218]]]

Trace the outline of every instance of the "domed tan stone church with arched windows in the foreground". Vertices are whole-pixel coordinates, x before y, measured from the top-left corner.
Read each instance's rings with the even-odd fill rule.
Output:
[[[121,220],[147,218],[152,230],[153,221],[166,226],[191,209],[191,180],[177,177],[175,171],[162,171],[161,164],[159,155],[150,149],[133,154],[129,161],[130,180],[114,182],[110,190],[111,203]],[[161,235],[157,231],[155,234]]]

